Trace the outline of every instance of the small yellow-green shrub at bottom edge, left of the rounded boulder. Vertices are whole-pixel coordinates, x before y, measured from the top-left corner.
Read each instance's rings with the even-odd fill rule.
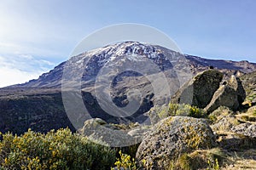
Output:
[[[114,163],[114,165],[117,167],[118,170],[122,169],[129,169],[129,170],[136,170],[136,161],[134,158],[131,158],[131,156],[127,154],[123,154],[121,150],[119,150],[119,156],[120,158],[117,158],[117,161]],[[114,169],[113,167],[111,168]]]

